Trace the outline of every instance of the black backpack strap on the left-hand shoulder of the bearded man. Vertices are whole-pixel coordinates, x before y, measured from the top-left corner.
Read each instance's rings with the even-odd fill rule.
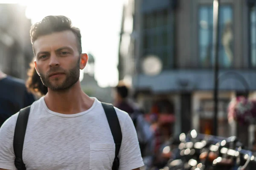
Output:
[[[15,132],[14,132],[14,138],[13,138],[13,150],[16,156],[15,167],[18,170],[26,170],[25,164],[22,159],[22,151],[23,151],[23,144],[24,144],[24,138],[26,133],[26,126],[29,119],[29,112],[30,112],[30,106],[21,109],[20,113],[18,114],[18,118],[15,126]]]

